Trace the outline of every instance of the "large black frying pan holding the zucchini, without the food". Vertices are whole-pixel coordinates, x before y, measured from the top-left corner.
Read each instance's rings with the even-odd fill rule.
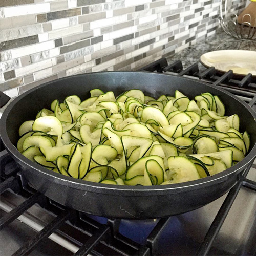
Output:
[[[49,108],[54,99],[64,100],[76,94],[90,97],[89,91],[100,88],[119,95],[140,89],[145,95],[158,98],[174,95],[179,90],[190,98],[203,92],[218,95],[226,106],[226,114],[240,116],[241,131],[251,136],[248,155],[238,164],[213,177],[173,185],[119,186],[106,185],[62,176],[25,158],[16,149],[18,128],[34,119],[42,108]],[[27,180],[41,193],[62,205],[90,214],[129,219],[166,217],[187,212],[224,195],[237,182],[237,174],[256,155],[256,113],[242,100],[223,89],[187,79],[147,72],[100,72],[65,77],[38,86],[16,98],[1,118],[1,138],[7,151],[22,169]]]

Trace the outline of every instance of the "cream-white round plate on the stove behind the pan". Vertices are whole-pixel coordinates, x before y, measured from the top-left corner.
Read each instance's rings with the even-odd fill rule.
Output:
[[[201,56],[201,63],[206,67],[215,67],[216,70],[227,72],[230,69],[234,74],[256,76],[256,51],[222,50],[208,52]]]

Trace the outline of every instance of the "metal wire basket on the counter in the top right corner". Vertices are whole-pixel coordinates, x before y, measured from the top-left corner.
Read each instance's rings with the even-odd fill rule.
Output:
[[[253,19],[250,14],[244,14],[242,22],[239,23],[237,14],[228,13],[227,2],[228,0],[220,0],[219,23],[222,29],[236,39],[256,41],[256,19]],[[225,4],[224,13],[222,10],[223,3]]]

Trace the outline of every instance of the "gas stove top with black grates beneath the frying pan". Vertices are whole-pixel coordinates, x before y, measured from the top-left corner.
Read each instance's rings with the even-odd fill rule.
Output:
[[[251,75],[234,79],[214,68],[199,72],[162,58],[143,68],[201,79],[225,89],[256,110]],[[254,255],[256,161],[238,175],[228,194],[194,211],[152,220],[118,220],[65,208],[24,179],[1,144],[1,255]]]

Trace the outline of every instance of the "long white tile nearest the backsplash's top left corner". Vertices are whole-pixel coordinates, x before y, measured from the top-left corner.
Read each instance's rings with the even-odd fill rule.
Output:
[[[4,8],[4,16],[6,18],[45,12],[50,12],[50,3],[18,5]]]

